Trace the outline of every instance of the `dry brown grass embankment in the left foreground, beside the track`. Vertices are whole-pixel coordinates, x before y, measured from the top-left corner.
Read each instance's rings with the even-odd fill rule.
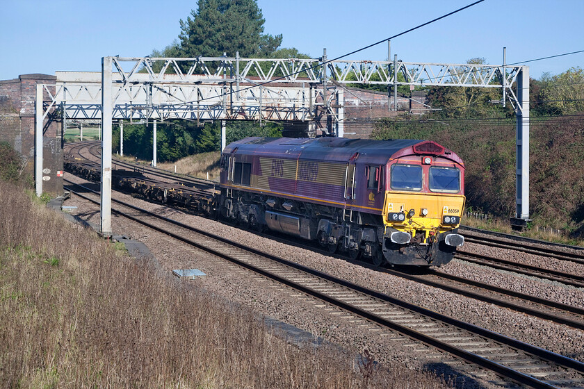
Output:
[[[0,231],[3,387],[445,387],[287,345],[250,311],[128,258],[3,181]]]

